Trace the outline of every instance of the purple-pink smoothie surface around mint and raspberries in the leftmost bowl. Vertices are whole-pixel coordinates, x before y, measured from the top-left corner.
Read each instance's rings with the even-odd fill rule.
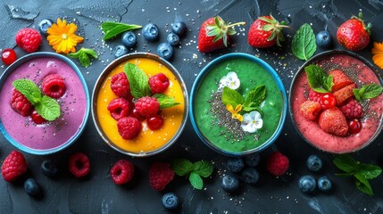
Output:
[[[12,82],[28,78],[41,85],[43,78],[57,73],[64,78],[67,91],[57,99],[62,115],[48,124],[36,125],[11,107]],[[0,119],[6,132],[19,144],[34,150],[50,150],[67,143],[85,126],[87,96],[79,76],[71,66],[57,58],[40,57],[21,64],[5,79],[0,92]]]

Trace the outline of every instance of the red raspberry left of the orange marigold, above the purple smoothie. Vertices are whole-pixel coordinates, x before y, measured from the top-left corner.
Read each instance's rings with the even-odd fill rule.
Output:
[[[28,53],[37,51],[41,44],[41,35],[36,29],[20,29],[16,34],[16,44]]]

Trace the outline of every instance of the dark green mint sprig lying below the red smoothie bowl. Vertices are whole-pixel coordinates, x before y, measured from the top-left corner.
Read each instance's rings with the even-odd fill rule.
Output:
[[[355,185],[362,193],[366,193],[370,196],[374,194],[369,180],[379,177],[382,172],[382,169],[379,166],[355,161],[354,158],[348,154],[337,155],[334,158],[333,163],[338,169],[345,172],[337,174],[338,176],[354,176],[356,178]]]

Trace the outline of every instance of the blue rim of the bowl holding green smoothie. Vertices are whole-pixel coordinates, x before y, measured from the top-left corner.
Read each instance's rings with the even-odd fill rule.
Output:
[[[271,136],[271,138],[268,141],[266,141],[265,143],[263,143],[262,145],[255,147],[254,149],[251,149],[251,150],[246,150],[244,152],[229,152],[229,151],[225,151],[225,150],[215,146],[214,144],[212,144],[207,138],[204,137],[202,132],[199,130],[199,128],[196,124],[196,119],[195,119],[194,110],[193,110],[193,106],[194,106],[193,100],[196,96],[196,90],[198,89],[198,87],[199,87],[200,83],[202,82],[202,80],[204,79],[204,77],[212,70],[212,67],[218,63],[223,62],[223,61],[227,61],[229,59],[236,59],[236,58],[247,59],[251,62],[258,63],[262,66],[262,68],[264,68],[267,72],[269,72],[271,74],[272,78],[275,79],[277,86],[279,87],[280,93],[282,95],[282,104],[283,104],[282,114],[281,114],[280,119],[279,119],[279,126],[274,131],[274,134]],[[267,62],[264,62],[264,61],[262,61],[262,59],[254,56],[254,55],[248,54],[248,53],[227,53],[227,54],[221,55],[220,57],[214,59],[212,62],[209,62],[209,64],[206,65],[204,67],[204,69],[201,70],[201,72],[198,74],[196,81],[194,82],[194,84],[192,86],[189,99],[190,99],[190,101],[189,101],[189,103],[190,103],[189,104],[189,111],[190,111],[189,117],[190,117],[190,121],[192,123],[192,126],[196,131],[197,136],[204,142],[204,144],[207,144],[213,151],[219,152],[219,153],[221,153],[223,155],[227,155],[227,156],[245,156],[247,154],[254,153],[254,152],[262,152],[268,146],[273,144],[275,142],[275,140],[278,138],[278,136],[279,136],[280,132],[282,131],[282,128],[285,124],[285,119],[287,117],[286,89],[282,83],[282,80],[279,78],[278,73]]]

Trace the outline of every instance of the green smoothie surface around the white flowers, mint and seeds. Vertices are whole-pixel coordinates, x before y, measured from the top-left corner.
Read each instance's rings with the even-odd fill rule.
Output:
[[[266,98],[260,106],[262,128],[254,133],[244,132],[244,135],[240,137],[228,130],[232,128],[232,125],[226,126],[220,123],[217,113],[212,112],[212,97],[217,95],[220,79],[230,71],[237,73],[237,78],[240,80],[237,92],[243,95],[244,99],[255,86],[266,86]],[[217,63],[204,76],[196,89],[193,107],[196,125],[208,141],[223,151],[245,152],[259,147],[274,135],[282,115],[283,97],[271,74],[261,65],[250,60],[234,58]],[[241,113],[244,114],[244,112]],[[230,115],[229,111],[228,114]],[[236,128],[240,128],[241,122],[237,119],[233,119],[232,123],[237,123]]]

